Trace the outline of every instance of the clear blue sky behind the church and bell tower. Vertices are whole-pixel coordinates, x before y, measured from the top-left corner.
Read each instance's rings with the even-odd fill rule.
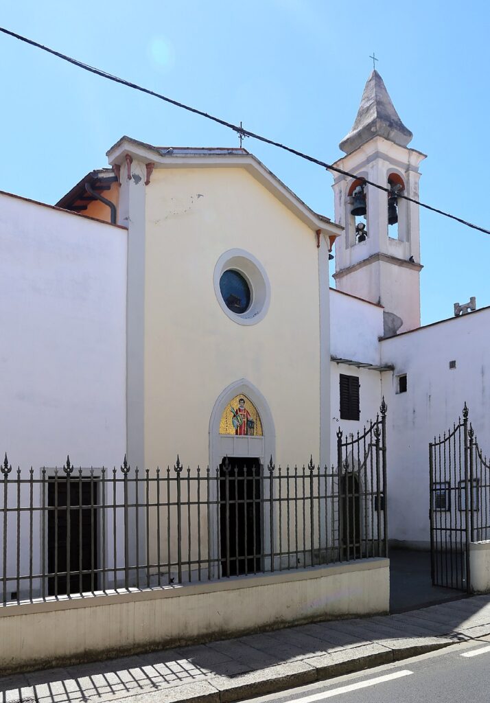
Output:
[[[470,1],[46,0],[4,4],[0,25],[130,81],[333,162],[379,57],[396,110],[427,154],[420,198],[490,228],[488,4]],[[56,202],[123,134],[238,146],[224,127],[0,35],[0,190]],[[318,212],[331,176],[273,147],[244,146]],[[490,305],[490,236],[421,211],[423,323],[453,302]]]

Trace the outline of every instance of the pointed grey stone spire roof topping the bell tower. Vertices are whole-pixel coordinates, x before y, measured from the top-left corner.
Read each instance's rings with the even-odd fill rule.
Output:
[[[406,146],[413,137],[410,129],[401,122],[385,83],[376,70],[368,78],[352,129],[339,146],[350,154],[373,136],[385,137],[400,146]]]

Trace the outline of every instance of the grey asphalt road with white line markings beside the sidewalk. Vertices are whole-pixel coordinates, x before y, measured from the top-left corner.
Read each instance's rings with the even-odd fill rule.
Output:
[[[490,638],[250,703],[489,703]]]

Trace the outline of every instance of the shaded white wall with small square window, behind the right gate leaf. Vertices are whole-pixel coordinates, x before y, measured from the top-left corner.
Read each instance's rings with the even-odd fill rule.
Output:
[[[490,452],[490,308],[382,340],[382,392],[388,404],[389,538],[428,548],[428,445],[458,421],[463,405],[484,453]],[[456,368],[449,369],[449,361]],[[396,394],[396,375],[407,392]]]

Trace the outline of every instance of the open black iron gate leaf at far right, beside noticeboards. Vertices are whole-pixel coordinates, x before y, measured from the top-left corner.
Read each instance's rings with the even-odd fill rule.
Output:
[[[429,444],[430,552],[434,586],[470,593],[470,543],[490,538],[490,463],[468,420]]]

